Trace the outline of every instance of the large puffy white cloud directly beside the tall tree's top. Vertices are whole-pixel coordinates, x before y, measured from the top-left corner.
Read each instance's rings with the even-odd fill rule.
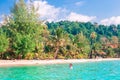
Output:
[[[52,5],[49,5],[46,1],[34,1],[33,4],[38,9],[38,14],[40,17],[47,21],[56,21],[60,13],[65,13],[65,9],[56,8]]]

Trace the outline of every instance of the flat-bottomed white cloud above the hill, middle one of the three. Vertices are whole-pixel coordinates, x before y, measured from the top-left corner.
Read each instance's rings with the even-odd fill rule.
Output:
[[[86,15],[82,15],[82,14],[77,14],[75,12],[71,12],[67,17],[67,20],[88,22],[88,21],[94,20],[95,18],[96,18],[96,16],[86,16]]]

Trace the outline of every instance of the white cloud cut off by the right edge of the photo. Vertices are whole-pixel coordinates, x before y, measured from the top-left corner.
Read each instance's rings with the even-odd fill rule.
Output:
[[[110,17],[110,18],[106,18],[106,19],[103,19],[100,21],[101,24],[103,25],[111,25],[111,24],[120,24],[120,16],[113,16],[113,17]]]

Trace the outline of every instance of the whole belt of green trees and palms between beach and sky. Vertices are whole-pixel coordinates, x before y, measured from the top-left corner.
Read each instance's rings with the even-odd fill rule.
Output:
[[[19,0],[0,27],[1,59],[120,57],[120,25],[39,20],[32,4]]]

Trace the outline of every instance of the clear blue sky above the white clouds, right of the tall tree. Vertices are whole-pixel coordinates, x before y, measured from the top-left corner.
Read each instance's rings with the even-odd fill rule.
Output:
[[[47,0],[56,7],[65,7],[68,10],[97,16],[98,20],[120,15],[120,0]],[[80,3],[75,5],[76,3]]]

